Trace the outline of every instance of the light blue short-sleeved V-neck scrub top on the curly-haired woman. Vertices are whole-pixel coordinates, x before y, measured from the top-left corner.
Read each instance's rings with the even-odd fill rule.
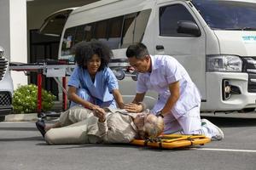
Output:
[[[95,81],[92,82],[87,69],[76,66],[67,83],[68,86],[84,88],[92,98],[109,102],[113,100],[113,89],[119,89],[118,81],[108,67],[96,73]]]

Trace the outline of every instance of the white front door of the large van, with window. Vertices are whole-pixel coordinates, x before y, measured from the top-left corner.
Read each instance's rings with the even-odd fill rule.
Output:
[[[158,1],[154,53],[175,57],[199,88],[202,99],[206,99],[206,35],[191,6],[184,1]],[[186,26],[196,27],[198,32],[192,29],[180,33],[177,29],[180,26],[185,26],[183,30],[187,31]]]

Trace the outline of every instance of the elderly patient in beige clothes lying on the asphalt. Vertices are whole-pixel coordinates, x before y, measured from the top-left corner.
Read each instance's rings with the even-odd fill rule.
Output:
[[[47,144],[129,143],[132,139],[154,138],[164,129],[162,117],[148,110],[130,113],[113,108],[90,111],[80,106],[61,113],[59,122],[36,122]]]

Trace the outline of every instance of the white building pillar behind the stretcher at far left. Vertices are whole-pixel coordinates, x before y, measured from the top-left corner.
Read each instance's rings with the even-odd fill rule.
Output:
[[[27,62],[26,0],[0,1],[0,45],[9,61]],[[11,71],[14,87],[26,84],[23,72]]]

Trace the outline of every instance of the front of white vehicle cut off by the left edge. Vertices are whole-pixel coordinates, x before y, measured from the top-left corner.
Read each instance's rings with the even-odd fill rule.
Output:
[[[9,62],[3,57],[4,50],[0,46],[0,121],[13,111],[12,96],[14,93],[13,80],[10,77]]]

